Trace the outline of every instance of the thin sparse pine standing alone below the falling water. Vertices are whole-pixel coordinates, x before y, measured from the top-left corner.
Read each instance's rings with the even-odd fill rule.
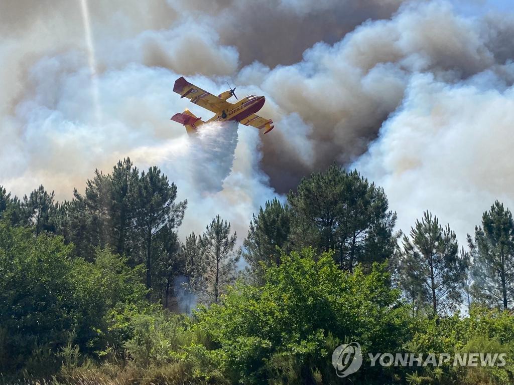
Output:
[[[227,285],[235,279],[239,252],[234,252],[237,235],[231,234],[230,223],[219,215],[207,226],[199,238],[200,256],[205,264],[205,289],[203,294],[207,303],[219,303]]]

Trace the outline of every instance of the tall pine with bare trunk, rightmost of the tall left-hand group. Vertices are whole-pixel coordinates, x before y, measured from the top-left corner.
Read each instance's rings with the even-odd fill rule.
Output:
[[[175,203],[177,187],[169,183],[156,166],[142,172],[134,186],[134,228],[144,249],[146,288],[152,288],[152,266],[156,256],[153,243],[162,229],[180,226],[187,201]]]

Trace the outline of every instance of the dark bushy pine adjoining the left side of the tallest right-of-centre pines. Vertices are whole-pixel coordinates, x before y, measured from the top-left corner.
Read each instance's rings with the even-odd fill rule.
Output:
[[[244,258],[254,273],[261,271],[261,262],[266,266],[279,266],[281,250],[288,253],[291,213],[287,204],[278,199],[267,201],[259,215],[250,221],[248,237],[244,241]]]

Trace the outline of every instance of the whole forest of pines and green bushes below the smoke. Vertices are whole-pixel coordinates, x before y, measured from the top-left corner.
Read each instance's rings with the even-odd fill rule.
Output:
[[[381,187],[333,165],[266,202],[248,234],[220,208],[180,240],[177,188],[130,159],[69,201],[0,186],[0,384],[514,382],[514,220],[501,202],[465,244],[429,211],[402,232]],[[339,378],[331,357],[348,341],[364,364]],[[506,364],[372,367],[367,352]]]

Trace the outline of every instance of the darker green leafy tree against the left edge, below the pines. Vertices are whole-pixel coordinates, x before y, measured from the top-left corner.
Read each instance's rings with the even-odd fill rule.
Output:
[[[21,368],[36,350],[56,350],[80,318],[69,275],[71,246],[0,223],[0,367]]]

